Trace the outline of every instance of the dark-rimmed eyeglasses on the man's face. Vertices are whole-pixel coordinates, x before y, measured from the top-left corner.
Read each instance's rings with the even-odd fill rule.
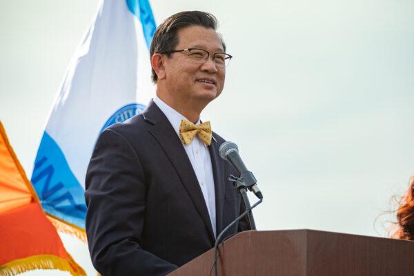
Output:
[[[204,63],[208,60],[208,57],[210,57],[210,52],[203,50],[203,49],[197,49],[197,48],[187,48],[183,50],[171,50],[166,52],[161,52],[160,54],[172,54],[174,52],[184,52],[184,54],[187,55],[191,60],[198,62],[198,63]],[[225,52],[214,52],[212,53],[212,60],[215,63],[215,66],[219,68],[224,68],[228,66],[228,63],[230,63],[230,59],[233,57],[232,55],[228,55]]]

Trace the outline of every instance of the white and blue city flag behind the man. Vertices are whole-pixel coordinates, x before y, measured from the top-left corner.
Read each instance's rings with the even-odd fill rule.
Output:
[[[148,0],[103,0],[73,55],[34,161],[43,209],[85,229],[86,168],[99,133],[144,110],[154,95]]]

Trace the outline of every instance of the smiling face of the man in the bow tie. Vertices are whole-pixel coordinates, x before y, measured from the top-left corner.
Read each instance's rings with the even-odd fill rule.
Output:
[[[178,31],[175,49],[199,48],[210,52],[204,63],[197,63],[183,52],[165,60],[166,87],[172,97],[184,103],[207,105],[223,90],[226,68],[219,68],[211,59],[215,52],[224,52],[221,39],[211,28],[189,26]]]

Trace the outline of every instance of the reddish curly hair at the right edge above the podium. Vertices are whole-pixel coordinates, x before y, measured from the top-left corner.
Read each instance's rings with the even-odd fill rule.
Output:
[[[397,239],[414,240],[414,176],[410,179],[410,186],[397,210],[397,230],[393,237]]]

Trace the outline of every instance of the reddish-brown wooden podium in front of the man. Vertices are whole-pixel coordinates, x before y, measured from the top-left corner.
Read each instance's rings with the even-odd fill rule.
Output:
[[[316,230],[246,231],[219,246],[220,276],[414,276],[414,242]],[[214,275],[214,250],[168,276]]]

